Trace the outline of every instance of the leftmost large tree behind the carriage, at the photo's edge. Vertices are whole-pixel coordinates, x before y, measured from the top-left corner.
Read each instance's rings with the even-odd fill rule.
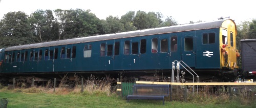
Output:
[[[0,22],[0,46],[10,47],[34,43],[28,15],[22,11],[5,14]]]

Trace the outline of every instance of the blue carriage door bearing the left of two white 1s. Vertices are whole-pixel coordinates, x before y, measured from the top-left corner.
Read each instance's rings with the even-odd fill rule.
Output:
[[[106,57],[105,57],[105,69],[106,71],[113,70],[114,68],[114,40],[106,41]]]

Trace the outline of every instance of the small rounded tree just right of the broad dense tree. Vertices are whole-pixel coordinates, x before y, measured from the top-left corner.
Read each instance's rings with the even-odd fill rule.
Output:
[[[123,24],[118,17],[109,16],[102,20],[105,34],[118,33],[123,31]]]

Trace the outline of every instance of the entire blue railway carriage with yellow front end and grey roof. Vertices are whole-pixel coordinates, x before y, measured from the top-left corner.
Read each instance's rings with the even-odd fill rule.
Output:
[[[224,19],[13,46],[1,50],[0,75],[162,72],[168,77],[172,62],[182,60],[201,80],[228,79],[238,68],[236,36],[234,21]]]

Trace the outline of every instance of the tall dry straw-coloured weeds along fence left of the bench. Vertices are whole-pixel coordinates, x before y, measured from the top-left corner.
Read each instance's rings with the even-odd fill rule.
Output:
[[[13,92],[23,92],[23,93],[52,93],[52,94],[78,94],[81,93],[81,77],[77,75],[74,76],[74,81],[68,80],[68,75],[65,75],[58,84],[56,84],[54,92],[54,82],[49,80],[46,85],[39,87],[26,88],[25,83],[20,83],[22,85],[20,88],[12,89],[10,85],[8,87],[3,87],[0,84],[0,91],[13,91]],[[83,93],[82,95],[106,95],[111,94],[111,81],[104,79],[97,79],[93,75],[88,77],[83,81]]]

